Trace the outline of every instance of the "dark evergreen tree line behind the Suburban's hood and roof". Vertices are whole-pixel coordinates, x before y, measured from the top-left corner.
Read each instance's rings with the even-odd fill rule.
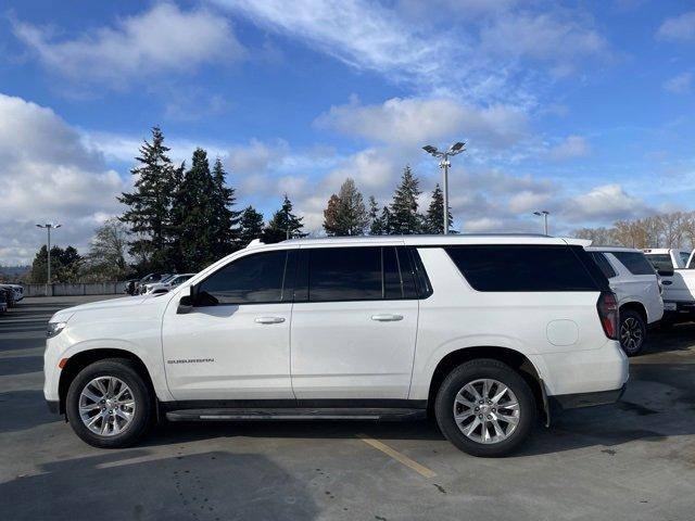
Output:
[[[285,194],[280,208],[266,223],[253,206],[239,209],[237,191],[217,157],[212,162],[201,148],[186,162],[174,164],[161,128],[152,128],[131,168],[134,189],[117,196],[123,215],[108,219],[91,240],[87,254],[76,249],[51,247],[53,282],[124,280],[147,272],[198,271],[245,247],[253,239],[275,243],[303,238],[303,217]],[[348,178],[324,211],[327,236],[442,233],[444,202],[439,185],[425,213],[419,212],[419,180],[405,166],[390,204],[367,204]],[[447,212],[450,225],[453,221]],[[36,254],[28,281],[46,282],[48,252]]]

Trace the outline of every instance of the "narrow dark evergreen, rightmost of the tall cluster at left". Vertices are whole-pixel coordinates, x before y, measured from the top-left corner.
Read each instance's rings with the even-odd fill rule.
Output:
[[[239,214],[232,208],[237,198],[235,189],[226,185],[226,173],[219,157],[213,166],[212,193],[213,255],[222,258],[239,247]]]

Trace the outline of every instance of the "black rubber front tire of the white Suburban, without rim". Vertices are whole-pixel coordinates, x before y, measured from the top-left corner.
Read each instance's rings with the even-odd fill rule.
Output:
[[[104,436],[93,433],[79,416],[79,396],[85,386],[98,377],[116,377],[132,391],[136,404],[132,420],[119,434]],[[65,410],[67,421],[83,441],[100,448],[122,448],[135,444],[148,432],[153,418],[152,404],[152,394],[135,364],[127,358],[106,358],[87,366],[75,377],[67,390]]]

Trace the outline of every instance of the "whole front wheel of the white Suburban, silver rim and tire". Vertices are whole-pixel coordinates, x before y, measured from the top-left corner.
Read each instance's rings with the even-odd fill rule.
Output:
[[[127,447],[148,431],[152,397],[135,365],[125,358],[100,360],[83,369],[70,385],[67,420],[88,444]]]

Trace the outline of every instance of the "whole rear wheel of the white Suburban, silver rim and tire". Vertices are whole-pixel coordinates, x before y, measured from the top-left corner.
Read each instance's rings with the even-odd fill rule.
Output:
[[[444,436],[473,456],[505,456],[535,423],[533,393],[521,376],[494,359],[458,366],[442,382],[434,404]]]

